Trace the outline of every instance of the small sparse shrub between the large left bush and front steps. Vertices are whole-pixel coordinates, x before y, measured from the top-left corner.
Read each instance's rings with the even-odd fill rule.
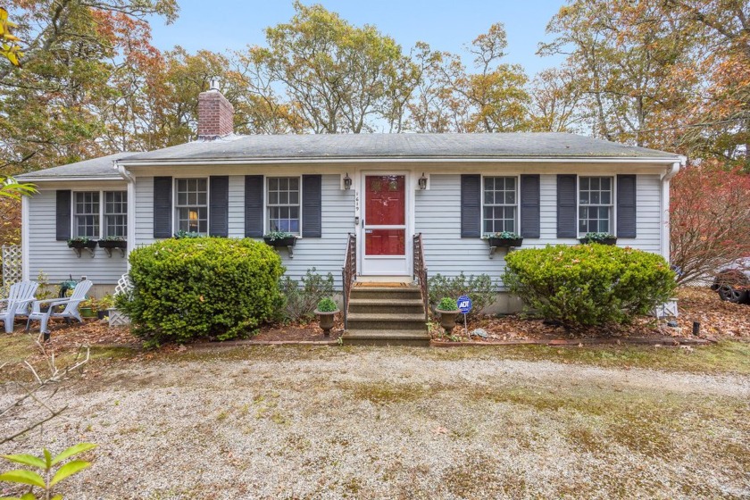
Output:
[[[332,296],[333,275],[318,274],[313,267],[304,273],[302,285],[296,279],[285,276],[279,280],[281,300],[275,304],[274,317],[277,321],[299,321],[312,318],[315,306],[321,298]]]

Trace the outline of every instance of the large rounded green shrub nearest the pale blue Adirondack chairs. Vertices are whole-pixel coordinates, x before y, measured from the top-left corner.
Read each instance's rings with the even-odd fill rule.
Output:
[[[279,255],[252,239],[165,239],[129,258],[134,288],[117,306],[147,344],[242,337],[279,301]]]

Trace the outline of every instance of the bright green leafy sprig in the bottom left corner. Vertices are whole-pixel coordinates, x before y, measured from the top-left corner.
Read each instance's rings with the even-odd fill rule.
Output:
[[[77,454],[82,454],[94,448],[96,448],[96,445],[92,443],[79,443],[76,446],[71,446],[63,451],[63,453],[56,455],[54,458],[46,448],[43,450],[42,457],[37,457],[32,454],[0,455],[9,462],[34,467],[39,471],[28,471],[25,469],[7,471],[0,474],[0,481],[30,486],[31,490],[21,496],[21,500],[36,500],[37,498],[43,498],[45,500],[62,500],[62,495],[53,495],[53,487],[63,479],[70,478],[72,475],[87,469],[91,465],[91,462],[83,460],[72,460],[71,462],[66,462],[61,465],[53,475],[54,467]],[[33,491],[34,487],[41,489],[44,495],[35,496]],[[12,497],[4,498],[4,500],[12,500]]]

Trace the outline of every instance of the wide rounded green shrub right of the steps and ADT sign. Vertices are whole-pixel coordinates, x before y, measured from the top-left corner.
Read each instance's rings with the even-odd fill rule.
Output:
[[[505,256],[504,282],[531,311],[569,327],[630,321],[674,292],[661,255],[604,245],[547,246]]]

